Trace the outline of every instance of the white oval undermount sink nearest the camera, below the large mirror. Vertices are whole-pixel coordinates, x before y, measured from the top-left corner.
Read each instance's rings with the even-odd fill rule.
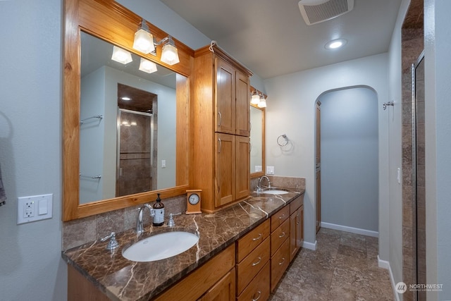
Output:
[[[133,262],[154,262],[173,257],[190,249],[199,236],[185,231],[160,233],[135,242],[122,251],[122,256]]]

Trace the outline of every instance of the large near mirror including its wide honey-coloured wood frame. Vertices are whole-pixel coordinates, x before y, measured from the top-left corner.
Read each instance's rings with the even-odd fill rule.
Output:
[[[142,19],[127,8],[112,0],[66,0],[65,4],[63,221],[143,204],[156,198],[156,193],[163,198],[183,195],[189,187],[194,51],[174,39],[180,63],[168,66],[159,60],[161,46],[156,47],[156,56],[132,49]],[[168,36],[147,25],[157,41]],[[113,46],[129,51],[137,65],[120,67],[111,59],[100,59],[105,53],[111,58]],[[158,65],[159,79],[137,70],[141,57]],[[124,91],[140,94],[146,104],[124,104]],[[139,126],[140,122],[146,126]],[[142,132],[139,137],[137,132]],[[135,166],[121,165],[124,160],[134,161]],[[144,162],[152,171],[142,168]],[[129,182],[135,185],[139,178],[146,183],[130,190],[121,176],[127,168],[135,173],[137,166],[143,173]]]

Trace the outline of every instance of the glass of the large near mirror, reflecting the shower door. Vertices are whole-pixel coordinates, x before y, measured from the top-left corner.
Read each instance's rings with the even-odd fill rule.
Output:
[[[80,204],[175,187],[176,90],[187,78],[141,70],[136,54],[114,61],[114,45],[86,32],[80,44]]]

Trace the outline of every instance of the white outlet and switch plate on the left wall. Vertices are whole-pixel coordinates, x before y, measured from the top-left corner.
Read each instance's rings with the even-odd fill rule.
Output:
[[[17,199],[17,224],[51,219],[53,194],[33,195],[30,197],[18,197]]]

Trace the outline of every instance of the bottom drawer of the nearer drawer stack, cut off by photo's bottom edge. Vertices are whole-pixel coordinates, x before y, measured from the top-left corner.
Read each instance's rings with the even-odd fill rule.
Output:
[[[265,266],[259,274],[247,285],[241,295],[237,297],[237,301],[251,301],[251,300],[268,300],[269,297],[269,275],[270,263],[266,262]]]

